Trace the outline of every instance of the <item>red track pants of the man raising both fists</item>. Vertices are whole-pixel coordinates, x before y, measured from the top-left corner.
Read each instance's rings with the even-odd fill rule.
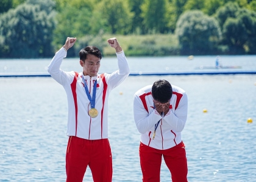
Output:
[[[69,136],[66,181],[82,182],[88,165],[94,182],[112,181],[112,153],[108,139],[85,140]]]

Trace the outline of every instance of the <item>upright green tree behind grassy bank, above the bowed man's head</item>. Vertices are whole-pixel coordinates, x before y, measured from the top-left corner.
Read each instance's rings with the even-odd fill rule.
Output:
[[[167,0],[144,0],[141,5],[141,16],[143,24],[149,33],[165,33],[168,32],[168,13],[169,2]]]

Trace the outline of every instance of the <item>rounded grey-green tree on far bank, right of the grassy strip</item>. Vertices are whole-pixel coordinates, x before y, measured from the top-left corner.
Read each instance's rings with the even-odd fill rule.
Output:
[[[176,35],[182,55],[205,55],[215,53],[221,30],[215,18],[199,10],[191,10],[180,16]]]

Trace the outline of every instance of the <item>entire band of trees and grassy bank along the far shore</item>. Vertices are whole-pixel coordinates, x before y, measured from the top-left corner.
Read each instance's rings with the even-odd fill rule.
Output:
[[[77,38],[68,56],[86,45],[108,55],[105,40],[118,35],[130,38],[126,55],[256,54],[256,0],[1,0],[0,7],[0,58],[52,57],[68,36]]]

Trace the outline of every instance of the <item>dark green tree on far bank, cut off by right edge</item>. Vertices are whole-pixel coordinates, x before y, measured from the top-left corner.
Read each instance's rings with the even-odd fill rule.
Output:
[[[223,45],[230,54],[255,53],[256,13],[229,2],[219,8],[216,19],[222,28]]]

